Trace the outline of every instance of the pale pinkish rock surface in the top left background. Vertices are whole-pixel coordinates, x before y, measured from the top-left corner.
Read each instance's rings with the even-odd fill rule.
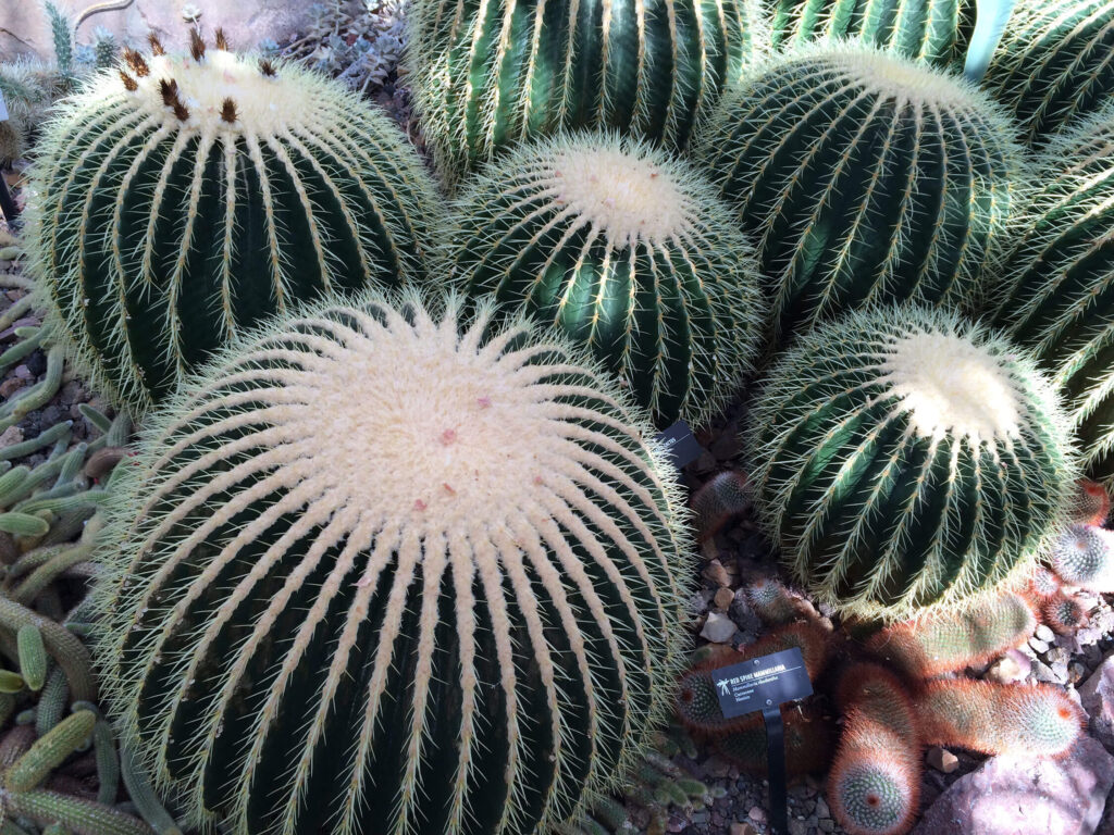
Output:
[[[55,4],[76,22],[94,0],[55,0]],[[211,38],[216,27],[224,27],[229,42],[251,48],[266,38],[280,40],[303,30],[311,20],[309,0],[133,0],[121,10],[94,14],[77,30],[80,43],[92,41],[92,32],[104,27],[118,40],[140,45],[147,33],[156,32],[166,45],[184,49],[188,31],[183,12],[193,7],[201,11],[202,31]],[[0,56],[4,60],[19,55],[49,59],[53,56],[50,22],[39,0],[0,0]]]

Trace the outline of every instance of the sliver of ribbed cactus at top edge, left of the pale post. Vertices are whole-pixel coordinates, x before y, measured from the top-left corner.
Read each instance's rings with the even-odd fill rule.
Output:
[[[795,47],[818,39],[858,38],[935,66],[961,61],[975,26],[973,0],[779,0],[773,43]]]

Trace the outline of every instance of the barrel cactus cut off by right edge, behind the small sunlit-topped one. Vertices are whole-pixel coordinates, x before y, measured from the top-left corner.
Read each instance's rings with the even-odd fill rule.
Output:
[[[1112,7],[1114,9],[1114,7]],[[1114,30],[1114,24],[1112,24]],[[1061,387],[1084,465],[1114,485],[1114,106],[1049,143],[991,322]]]

